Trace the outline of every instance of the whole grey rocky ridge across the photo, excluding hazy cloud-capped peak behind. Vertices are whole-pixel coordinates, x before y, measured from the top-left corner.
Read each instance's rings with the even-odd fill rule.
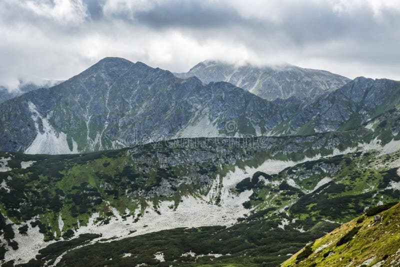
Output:
[[[107,57],[1,103],[0,150],[57,154],[178,137],[306,135],[356,128],[399,103],[400,82],[388,79],[358,77],[312,101],[266,100],[228,82]]]

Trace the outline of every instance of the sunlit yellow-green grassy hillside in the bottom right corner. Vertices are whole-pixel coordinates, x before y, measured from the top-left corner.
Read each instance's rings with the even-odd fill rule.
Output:
[[[387,209],[390,205],[372,208],[307,244],[282,266],[399,266],[400,203]]]

